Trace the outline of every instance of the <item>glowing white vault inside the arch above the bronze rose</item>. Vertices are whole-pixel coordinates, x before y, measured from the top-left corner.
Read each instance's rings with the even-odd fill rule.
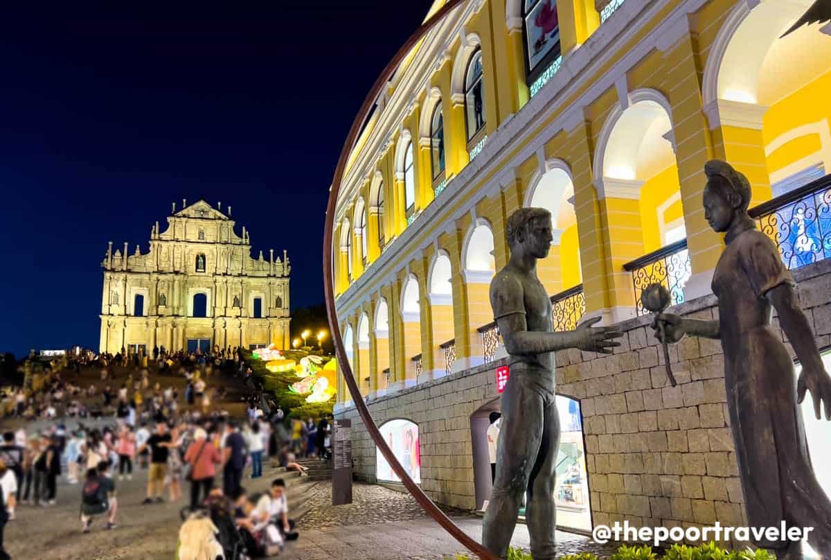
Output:
[[[599,196],[605,196],[605,183],[628,183],[632,186],[632,181],[643,175],[637,165],[646,156],[656,161],[669,157],[674,159],[671,110],[666,97],[652,88],[638,89],[629,94],[626,109],[619,102],[612,107],[594,152],[593,169]]]

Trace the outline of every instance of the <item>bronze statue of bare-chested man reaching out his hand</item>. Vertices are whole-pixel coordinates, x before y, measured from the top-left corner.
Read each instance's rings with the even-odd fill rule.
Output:
[[[555,404],[554,351],[579,348],[611,354],[620,343],[614,327],[553,332],[551,300],[537,278],[537,260],[553,240],[551,214],[521,208],[505,228],[511,258],[490,283],[490,305],[509,354],[510,379],[502,394],[502,428],[496,451],[496,479],[484,515],[483,545],[506,558],[523,495],[534,560],[554,558],[554,468],[560,439]]]

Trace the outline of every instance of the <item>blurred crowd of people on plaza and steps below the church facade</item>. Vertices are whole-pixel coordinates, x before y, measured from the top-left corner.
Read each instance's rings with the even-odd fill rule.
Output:
[[[48,425],[36,434],[25,429],[3,434],[0,560],[5,558],[2,526],[15,518],[18,504],[54,505],[61,476],[81,488],[84,533],[101,516],[106,516],[106,529],[115,529],[116,481],[146,471],[143,503],[177,502],[188,484],[187,509],[229,513],[235,533],[247,539],[249,551],[273,553],[275,546],[296,538],[288,521],[283,482],[275,480],[270,492],[249,496],[243,488],[243,472],[250,466],[248,476],[260,478],[263,462],[276,458],[286,470],[303,476],[307,467],[297,457],[331,456],[329,419],[287,418],[282,409],[268,407],[248,381],[246,388],[251,391],[246,393],[244,419],[232,419],[226,410],[212,408],[211,403],[227,397],[208,384],[217,369],[233,368],[244,379],[251,378],[237,349],[188,354],[168,353],[162,347],[151,355],[160,369],[152,376],[150,357],[141,351],[71,356],[70,367],[51,374],[41,392],[30,392],[17,401],[17,414],[47,419]],[[121,379],[113,374],[114,364],[122,366]],[[83,389],[80,379],[69,379],[83,366],[101,369],[106,386],[100,393],[96,394],[95,384]],[[126,379],[124,366],[130,370]],[[184,394],[174,384],[165,383],[163,388],[165,374],[184,378]],[[76,428],[67,429],[70,424]],[[216,479],[221,483],[214,483]]]

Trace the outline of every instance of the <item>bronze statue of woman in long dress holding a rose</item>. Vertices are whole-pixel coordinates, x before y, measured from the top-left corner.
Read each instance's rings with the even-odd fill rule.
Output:
[[[784,520],[789,527],[814,528],[809,544],[831,558],[831,500],[814,475],[797,406],[808,390],[817,418],[824,407],[826,419],[831,419],[831,377],[779,250],[748,216],[750,182],[724,161],[708,161],[705,172],[705,217],[713,230],[725,233],[726,248],[712,281],[719,319],[659,314],[652,328],[661,342],[678,342],[684,335],[721,340],[727,407],[750,527],[779,527]],[[771,306],[802,364],[798,383],[794,362],[770,327]],[[799,542],[763,538],[755,544],[774,549],[779,558],[802,558]]]

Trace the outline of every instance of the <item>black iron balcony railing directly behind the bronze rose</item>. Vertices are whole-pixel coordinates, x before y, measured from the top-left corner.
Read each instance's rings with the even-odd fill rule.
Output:
[[[659,250],[643,255],[640,259],[623,265],[623,270],[632,273],[632,286],[635,289],[635,306],[637,315],[646,315],[641,295],[650,284],[662,284],[670,293],[670,305],[684,301],[684,286],[692,275],[690,251],[686,249],[686,239],[666,245]]]

